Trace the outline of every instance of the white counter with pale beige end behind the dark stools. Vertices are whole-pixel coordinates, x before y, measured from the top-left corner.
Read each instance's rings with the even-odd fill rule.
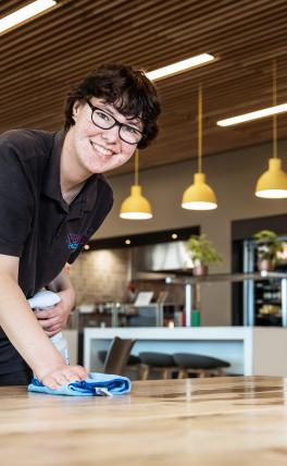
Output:
[[[99,351],[112,339],[134,339],[133,354],[195,353],[230,363],[228,375],[287,376],[287,329],[278,327],[166,327],[87,328],[84,332],[84,365],[101,370]]]

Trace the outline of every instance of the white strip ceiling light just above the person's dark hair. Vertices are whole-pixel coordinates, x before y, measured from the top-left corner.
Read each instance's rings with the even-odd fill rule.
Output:
[[[201,53],[200,56],[196,56],[187,60],[178,61],[177,63],[173,63],[167,66],[160,68],[159,70],[150,71],[146,73],[146,75],[148,76],[149,79],[157,81],[163,77],[182,73],[192,68],[201,66],[214,60],[215,58],[210,53]]]

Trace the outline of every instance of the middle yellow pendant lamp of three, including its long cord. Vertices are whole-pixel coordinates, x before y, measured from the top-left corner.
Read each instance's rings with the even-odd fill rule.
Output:
[[[189,210],[216,209],[217,201],[214,192],[205,183],[202,173],[202,88],[198,90],[198,172],[195,173],[194,184],[183,195],[182,207]]]

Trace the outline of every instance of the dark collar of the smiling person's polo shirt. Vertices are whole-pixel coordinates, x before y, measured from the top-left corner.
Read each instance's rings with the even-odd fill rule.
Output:
[[[63,210],[70,213],[68,217],[72,219],[82,217],[85,211],[89,211],[93,208],[98,192],[98,177],[101,175],[91,175],[74,203],[72,203],[71,206],[66,205],[62,196],[60,183],[60,161],[65,135],[66,133],[64,130],[53,134],[53,147],[43,171],[41,192],[46,196],[58,201]]]

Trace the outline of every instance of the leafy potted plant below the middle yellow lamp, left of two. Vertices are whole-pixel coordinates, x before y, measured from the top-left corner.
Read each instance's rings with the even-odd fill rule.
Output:
[[[194,275],[207,275],[210,263],[223,261],[205,234],[191,235],[186,247],[194,262]]]

